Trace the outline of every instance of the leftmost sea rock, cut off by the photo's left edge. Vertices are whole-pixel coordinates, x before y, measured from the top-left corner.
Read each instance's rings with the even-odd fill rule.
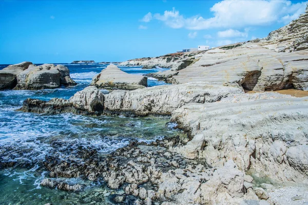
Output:
[[[31,64],[31,62],[22,62],[0,70],[0,89],[13,89],[17,84],[16,75]]]

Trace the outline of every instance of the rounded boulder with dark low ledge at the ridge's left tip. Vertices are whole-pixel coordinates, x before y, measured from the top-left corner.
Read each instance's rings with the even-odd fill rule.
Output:
[[[24,101],[17,111],[31,113],[74,113],[78,115],[101,115],[104,110],[104,95],[95,86],[76,92],[69,100],[53,98],[49,101],[30,99]]]

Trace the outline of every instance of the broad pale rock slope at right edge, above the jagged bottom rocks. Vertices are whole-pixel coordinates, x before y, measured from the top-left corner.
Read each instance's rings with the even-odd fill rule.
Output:
[[[233,159],[242,171],[308,183],[308,97],[275,94],[270,95],[272,99],[258,100],[264,95],[269,94],[252,94],[243,102],[234,100],[243,95],[229,96],[221,102],[188,104],[175,110],[172,120],[192,137],[176,151],[213,166]]]

